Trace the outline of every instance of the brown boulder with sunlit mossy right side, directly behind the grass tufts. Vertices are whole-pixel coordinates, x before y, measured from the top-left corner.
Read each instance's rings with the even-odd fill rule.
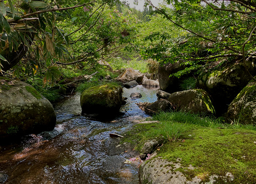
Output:
[[[172,93],[168,101],[172,103],[178,111],[215,114],[214,107],[207,92],[201,89]]]

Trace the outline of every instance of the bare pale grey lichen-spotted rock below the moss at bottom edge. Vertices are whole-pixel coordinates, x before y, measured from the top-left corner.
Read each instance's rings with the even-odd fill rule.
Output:
[[[179,168],[191,170],[188,167],[182,167],[180,162],[169,162],[159,157],[150,159],[149,162],[142,162],[140,166],[140,180],[142,183],[151,184],[199,184],[202,180],[197,176],[187,179],[180,172]]]

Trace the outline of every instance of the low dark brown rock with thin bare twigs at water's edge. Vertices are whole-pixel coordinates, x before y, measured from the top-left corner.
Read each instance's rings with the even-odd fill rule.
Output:
[[[143,102],[136,103],[141,110],[144,110],[146,114],[152,115],[154,113],[158,113],[160,111],[169,111],[174,110],[173,106],[167,100],[157,100],[153,103]]]

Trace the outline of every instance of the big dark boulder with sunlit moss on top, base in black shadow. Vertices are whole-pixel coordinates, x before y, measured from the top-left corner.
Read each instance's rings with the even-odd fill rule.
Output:
[[[252,75],[256,75],[256,62],[247,61]],[[204,73],[198,77],[196,87],[204,89],[213,99],[213,106],[218,116],[226,113],[228,105],[251,80],[243,63],[233,63],[226,67]]]

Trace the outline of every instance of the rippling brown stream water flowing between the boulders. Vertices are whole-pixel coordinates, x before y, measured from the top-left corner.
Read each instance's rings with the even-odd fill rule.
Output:
[[[130,99],[140,92],[142,98]],[[4,184],[138,184],[139,161],[129,144],[119,144],[110,133],[123,134],[148,117],[136,102],[156,101],[156,89],[141,85],[124,88],[127,104],[114,120],[81,116],[80,95],[54,105],[57,125],[53,131],[22,138],[20,143],[0,146],[0,183]]]

